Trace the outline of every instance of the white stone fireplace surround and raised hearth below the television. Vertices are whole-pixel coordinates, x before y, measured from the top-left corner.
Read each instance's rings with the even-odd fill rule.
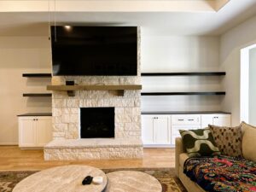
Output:
[[[140,30],[138,29],[138,54],[137,76],[54,76],[52,84],[65,84],[67,80],[73,80],[75,84],[141,84],[140,71]],[[116,91],[108,90],[79,90],[75,96],[67,96],[65,91],[53,91],[53,139],[44,148],[45,160],[81,160],[81,159],[112,159],[112,158],[141,158],[143,156],[141,140],[141,91],[125,90],[124,96],[117,96]],[[140,144],[134,146],[119,143],[102,148],[96,146],[97,152],[90,151],[92,146],[84,143],[65,148],[59,148],[55,140],[65,143],[67,140],[75,142],[80,139],[80,108],[114,108],[114,139],[137,141]],[[84,140],[84,139],[81,139]],[[110,141],[110,140],[108,140]],[[136,142],[136,143],[137,143]],[[65,146],[65,145],[64,145]],[[63,147],[63,146],[62,146]],[[96,150],[93,148],[93,150]],[[84,154],[84,150],[86,153]],[[69,151],[67,153],[67,151]],[[100,151],[104,151],[99,155]],[[110,152],[111,151],[111,152]],[[107,154],[106,154],[107,153]],[[58,155],[56,155],[58,154]]]

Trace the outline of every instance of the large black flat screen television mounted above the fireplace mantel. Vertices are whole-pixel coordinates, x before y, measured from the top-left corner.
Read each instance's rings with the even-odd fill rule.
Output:
[[[51,26],[53,75],[137,75],[137,26]]]

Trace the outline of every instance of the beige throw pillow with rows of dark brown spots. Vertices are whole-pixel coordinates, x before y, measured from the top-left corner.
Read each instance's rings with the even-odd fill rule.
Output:
[[[241,125],[236,127],[209,125],[221,154],[241,157]]]

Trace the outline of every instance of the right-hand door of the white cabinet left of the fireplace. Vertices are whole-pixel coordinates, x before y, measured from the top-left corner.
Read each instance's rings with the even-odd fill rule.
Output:
[[[51,118],[37,118],[37,146],[44,147],[45,144],[52,140],[52,123]]]

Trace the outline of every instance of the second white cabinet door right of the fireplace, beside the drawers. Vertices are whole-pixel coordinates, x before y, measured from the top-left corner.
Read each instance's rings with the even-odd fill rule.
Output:
[[[154,119],[154,143],[171,144],[170,117],[159,115]]]

